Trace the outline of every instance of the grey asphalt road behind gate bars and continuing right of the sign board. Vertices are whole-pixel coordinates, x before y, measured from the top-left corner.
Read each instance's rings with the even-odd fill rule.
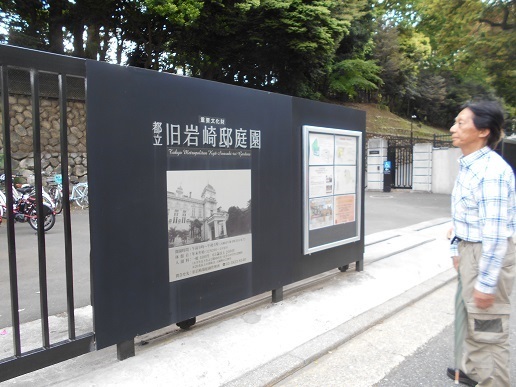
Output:
[[[365,193],[365,233],[372,234],[406,227],[430,219],[449,217],[449,195],[410,191]],[[72,211],[72,252],[75,307],[89,305],[89,215],[87,210]],[[0,225],[0,328],[11,326],[11,300],[7,255],[7,228]],[[27,223],[15,224],[18,270],[19,311],[22,323],[40,318],[38,240]],[[64,230],[62,216],[45,234],[49,314],[66,311]]]

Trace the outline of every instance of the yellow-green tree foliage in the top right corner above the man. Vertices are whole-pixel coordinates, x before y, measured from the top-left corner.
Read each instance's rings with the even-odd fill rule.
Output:
[[[516,105],[513,63],[516,45],[514,0],[420,2],[418,28],[432,36],[441,64],[464,79],[494,87]]]

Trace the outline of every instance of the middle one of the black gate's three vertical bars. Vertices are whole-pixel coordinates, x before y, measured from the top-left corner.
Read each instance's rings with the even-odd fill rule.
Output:
[[[48,326],[48,289],[47,289],[47,258],[45,248],[45,214],[43,211],[43,181],[41,176],[41,126],[39,116],[39,72],[30,72],[32,91],[32,129],[34,150],[34,185],[36,187],[36,215],[38,217],[38,262],[39,262],[39,302],[41,311],[41,335],[43,347],[50,347],[50,329]]]

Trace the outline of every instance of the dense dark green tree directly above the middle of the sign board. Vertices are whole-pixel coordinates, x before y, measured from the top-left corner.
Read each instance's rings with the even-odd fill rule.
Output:
[[[338,3],[206,1],[186,26],[178,56],[193,76],[316,96],[349,24],[334,15]]]

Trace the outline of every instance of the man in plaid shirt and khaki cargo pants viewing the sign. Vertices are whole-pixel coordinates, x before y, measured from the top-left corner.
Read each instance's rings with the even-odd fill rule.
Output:
[[[456,364],[447,374],[470,386],[510,386],[516,194],[512,168],[493,151],[503,121],[495,102],[469,103],[450,129],[463,156],[452,193],[451,253],[459,281]]]

